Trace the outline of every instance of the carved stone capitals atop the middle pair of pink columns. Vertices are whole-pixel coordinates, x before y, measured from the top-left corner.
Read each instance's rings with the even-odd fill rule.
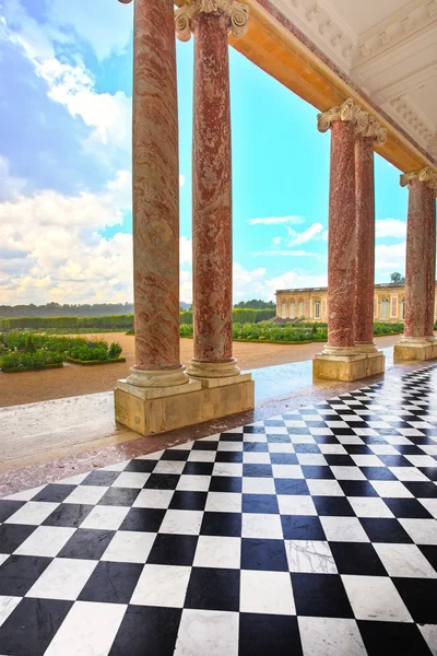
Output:
[[[350,121],[355,126],[357,137],[369,137],[376,145],[382,145],[387,139],[387,129],[371,114],[365,112],[353,98],[341,105],[334,105],[317,115],[317,129],[327,132],[334,120]]]

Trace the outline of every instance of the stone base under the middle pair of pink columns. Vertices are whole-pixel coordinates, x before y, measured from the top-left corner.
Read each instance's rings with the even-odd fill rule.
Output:
[[[341,349],[335,349],[339,354],[333,354],[334,349],[328,352],[317,353],[312,361],[312,376],[329,380],[358,380],[376,374],[382,374],[386,370],[386,356],[381,351],[359,353],[359,347],[345,349],[345,354],[340,354]],[[331,352],[330,352],[331,351]]]

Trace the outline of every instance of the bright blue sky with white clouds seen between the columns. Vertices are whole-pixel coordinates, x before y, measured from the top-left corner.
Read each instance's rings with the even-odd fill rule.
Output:
[[[132,4],[0,0],[0,304],[132,300]],[[181,288],[191,301],[193,43],[177,43]],[[329,134],[229,50],[234,302],[326,284]],[[376,156],[376,281],[404,272],[408,192]]]

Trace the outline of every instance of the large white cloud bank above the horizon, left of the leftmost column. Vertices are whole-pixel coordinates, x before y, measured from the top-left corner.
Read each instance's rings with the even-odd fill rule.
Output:
[[[0,297],[3,303],[132,298],[132,237],[101,231],[130,209],[130,174],[101,194],[42,191],[0,203]],[[4,247],[3,247],[4,245]]]

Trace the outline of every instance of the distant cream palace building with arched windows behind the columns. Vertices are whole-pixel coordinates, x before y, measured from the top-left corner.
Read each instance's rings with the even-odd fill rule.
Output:
[[[279,319],[328,320],[328,288],[304,288],[276,291]],[[437,321],[437,282],[435,288],[434,319]],[[405,320],[405,284],[375,284],[374,320]]]

